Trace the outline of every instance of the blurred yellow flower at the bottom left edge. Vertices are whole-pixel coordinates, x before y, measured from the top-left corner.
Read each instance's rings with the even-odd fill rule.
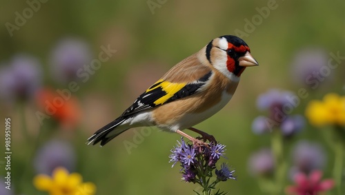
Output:
[[[72,173],[63,167],[57,167],[52,172],[52,177],[39,174],[34,177],[34,186],[49,192],[50,195],[92,195],[96,186],[93,183],[83,183],[80,174]]]

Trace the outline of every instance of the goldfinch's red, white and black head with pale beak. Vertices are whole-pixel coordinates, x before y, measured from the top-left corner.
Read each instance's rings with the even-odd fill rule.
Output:
[[[250,54],[247,43],[239,37],[224,35],[206,45],[206,58],[229,79],[241,76],[248,66],[259,65]]]

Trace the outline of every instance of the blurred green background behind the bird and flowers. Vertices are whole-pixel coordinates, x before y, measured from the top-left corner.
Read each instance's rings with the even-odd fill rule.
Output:
[[[37,174],[34,156],[46,142],[59,139],[72,145],[74,150],[75,165],[70,171],[80,173],[83,181],[95,183],[97,194],[193,194],[197,186],[181,182],[179,167],[170,168],[168,163],[170,149],[179,139],[177,134],[157,128],[138,128],[121,134],[102,148],[85,142],[173,65],[215,37],[241,30],[246,32],[242,38],[250,46],[259,67],[247,68],[230,103],[195,127],[227,145],[228,160],[222,161],[236,170],[237,181],[221,183],[222,190],[230,194],[264,194],[247,165],[250,154],[270,146],[269,134],[256,135],[251,130],[253,119],[265,114],[257,110],[257,96],[271,88],[297,92],[305,87],[295,82],[292,65],[296,52],[302,48],[323,48],[326,54],[339,52],[345,56],[345,1],[275,1],[277,8],[270,10],[266,18],[259,17],[262,20],[256,21],[257,25],[250,30],[253,32],[246,31],[246,19],[252,21],[258,14],[257,9],[271,2],[47,1],[40,3],[41,7],[22,26],[9,32],[8,23],[15,25],[16,12],[22,15],[23,10],[30,7],[26,1],[2,0],[0,65],[5,67],[19,53],[36,57],[42,67],[43,88],[68,88],[68,82],[55,79],[50,65],[52,50],[61,39],[83,40],[91,50],[90,59],[98,58],[101,45],[117,50],[108,61],[101,63],[95,74],[90,74],[88,81],[76,80],[80,88],[72,92],[72,96],[79,102],[81,115],[77,124],[68,130],[52,118],[44,119],[40,125],[35,114],[40,109],[34,97],[25,101],[1,100],[1,121],[8,116],[12,119],[12,193],[45,194],[32,185],[32,178]],[[344,94],[344,64],[343,59],[339,67],[332,70],[331,79],[320,82],[319,88],[307,88],[311,95],[301,100],[293,114],[304,114],[309,101],[322,99],[328,92]],[[25,128],[28,136],[21,131]],[[128,153],[125,143],[134,143],[135,131],[145,131],[148,135]],[[284,145],[284,156],[290,163],[294,143],[302,139],[317,141],[328,156],[324,174],[331,177],[334,154],[321,131],[306,123],[302,132]],[[4,148],[2,140],[1,150]],[[0,173],[4,174],[3,166]],[[288,184],[292,181],[287,178]]]

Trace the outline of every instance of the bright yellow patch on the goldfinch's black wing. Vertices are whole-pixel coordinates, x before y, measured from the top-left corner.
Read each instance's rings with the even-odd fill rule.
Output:
[[[184,88],[184,86],[186,86],[186,84],[187,83],[170,83],[168,81],[164,81],[164,80],[160,79],[155,84],[153,84],[151,86],[151,88],[146,90],[146,92],[150,92],[150,91],[155,90],[157,88],[161,88],[161,90],[166,92],[166,94],[164,96],[161,96],[159,99],[157,99],[154,102],[155,105],[159,105],[159,104],[163,104],[166,101],[168,101],[168,99],[170,99],[172,96],[174,96],[179,90]]]

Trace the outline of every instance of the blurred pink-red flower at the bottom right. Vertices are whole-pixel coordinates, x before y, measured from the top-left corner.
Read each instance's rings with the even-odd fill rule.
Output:
[[[296,185],[286,187],[285,192],[286,194],[316,195],[334,187],[335,181],[333,179],[321,181],[321,178],[322,172],[318,170],[311,172],[309,177],[302,172],[297,173],[294,177]]]

